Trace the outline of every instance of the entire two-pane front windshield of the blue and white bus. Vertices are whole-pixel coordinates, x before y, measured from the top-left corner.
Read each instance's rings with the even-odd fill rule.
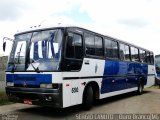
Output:
[[[61,59],[61,29],[15,35],[7,71],[56,71]]]

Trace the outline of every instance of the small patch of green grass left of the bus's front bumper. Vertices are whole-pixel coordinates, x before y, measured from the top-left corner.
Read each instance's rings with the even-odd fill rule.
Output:
[[[7,97],[6,93],[5,93],[5,91],[1,90],[1,91],[0,91],[0,106],[1,106],[1,105],[11,104],[11,103],[12,103],[12,102],[10,102],[10,101],[8,100],[8,97]]]

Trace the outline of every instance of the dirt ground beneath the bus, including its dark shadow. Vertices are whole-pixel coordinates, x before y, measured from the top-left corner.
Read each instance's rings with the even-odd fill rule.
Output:
[[[14,115],[14,117],[18,117],[18,120],[70,120],[100,118],[108,118],[111,120],[112,117],[115,119],[115,116],[117,120],[125,120],[126,115],[136,119],[135,114],[142,114],[143,116],[140,116],[142,120],[148,119],[151,115],[153,117],[152,119],[158,120],[160,119],[160,89],[152,87],[145,89],[142,95],[136,95],[132,92],[99,100],[90,111],[84,111],[80,105],[65,109],[54,109],[33,105],[12,104],[1,106],[0,114],[2,114],[2,117],[4,117],[4,115],[11,114]],[[141,120],[140,118],[137,119]]]

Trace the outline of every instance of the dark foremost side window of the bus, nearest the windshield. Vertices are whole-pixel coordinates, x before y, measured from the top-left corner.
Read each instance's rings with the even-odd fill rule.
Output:
[[[79,70],[82,65],[82,36],[68,33],[65,55],[65,70]]]

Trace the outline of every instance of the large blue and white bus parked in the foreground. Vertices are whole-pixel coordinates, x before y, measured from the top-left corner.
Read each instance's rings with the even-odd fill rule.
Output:
[[[6,43],[4,42],[4,50]],[[154,84],[153,52],[78,26],[33,27],[14,36],[6,68],[10,101],[55,108]]]

